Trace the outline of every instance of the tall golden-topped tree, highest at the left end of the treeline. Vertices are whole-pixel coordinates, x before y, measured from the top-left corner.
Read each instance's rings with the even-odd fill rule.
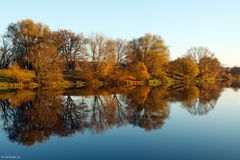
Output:
[[[31,48],[41,43],[49,32],[49,28],[42,23],[35,23],[30,19],[12,23],[7,28],[7,37],[13,45],[12,52],[15,61],[20,66],[30,68],[25,57],[30,54]]]

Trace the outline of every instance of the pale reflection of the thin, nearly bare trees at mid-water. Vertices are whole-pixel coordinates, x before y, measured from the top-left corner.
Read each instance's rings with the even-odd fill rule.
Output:
[[[93,96],[91,104],[90,130],[93,133],[103,132],[113,126],[127,123],[127,110],[121,96],[116,93]]]

